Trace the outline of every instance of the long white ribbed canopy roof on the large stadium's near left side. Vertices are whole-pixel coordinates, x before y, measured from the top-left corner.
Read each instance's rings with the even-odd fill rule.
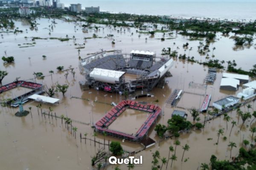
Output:
[[[100,82],[115,83],[119,82],[119,78],[124,74],[124,71],[94,68],[93,71],[90,72],[90,77],[93,77],[96,81]]]

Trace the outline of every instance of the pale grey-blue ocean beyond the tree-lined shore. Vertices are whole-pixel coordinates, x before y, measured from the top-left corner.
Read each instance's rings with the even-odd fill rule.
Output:
[[[198,19],[214,18],[228,20],[256,20],[256,0],[243,2],[174,2],[172,0],[60,0],[65,6],[81,3],[87,6],[99,6],[100,11],[111,13],[168,15],[172,17]]]

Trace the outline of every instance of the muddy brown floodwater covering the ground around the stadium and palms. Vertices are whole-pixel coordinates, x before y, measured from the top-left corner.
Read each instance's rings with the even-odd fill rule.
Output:
[[[56,20],[53,26],[53,30],[49,35],[49,25],[52,20],[40,19],[38,20],[38,31],[30,31],[29,26],[22,21],[16,21],[15,26],[19,27],[24,32],[22,34],[3,33],[3,38],[0,39],[0,54],[2,56],[13,56],[15,57],[15,64],[6,65],[1,61],[0,70],[6,70],[9,74],[3,79],[3,84],[13,82],[16,77],[20,79],[30,79],[34,81],[33,73],[42,72],[46,77],[43,80],[37,80],[39,83],[47,85],[49,88],[56,82],[60,84],[68,84],[69,88],[65,96],[61,93],[55,94],[55,98],[60,99],[58,105],[42,105],[42,110],[48,113],[49,107],[53,109],[53,113],[57,116],[68,116],[73,119],[73,126],[78,127],[76,133],[76,139],[72,137],[70,133],[65,129],[65,125],[61,124],[60,119],[54,117],[48,118],[48,116],[41,116],[41,111],[36,108],[38,102],[28,102],[24,105],[24,109],[29,111],[29,107],[32,107],[32,117],[29,114],[26,117],[16,117],[14,114],[17,112],[17,108],[6,108],[2,107],[0,110],[0,139],[1,139],[1,159],[0,164],[3,170],[9,169],[63,169],[63,170],[84,170],[92,169],[90,166],[91,157],[94,156],[95,152],[99,148],[94,142],[83,140],[80,143],[79,134],[84,136],[87,133],[87,138],[93,139],[93,125],[96,121],[102,118],[112,106],[111,102],[118,103],[124,99],[124,96],[120,96],[116,93],[107,93],[103,91],[81,91],[79,81],[83,80],[84,77],[79,72],[79,55],[84,58],[89,53],[100,51],[101,48],[104,50],[122,49],[124,53],[129,53],[132,49],[149,50],[154,51],[157,57],[160,57],[162,48],[171,47],[177,49],[180,54],[188,54],[194,56],[195,59],[205,60],[205,56],[200,56],[197,52],[197,46],[199,41],[189,41],[189,37],[183,37],[180,35],[173,36],[175,39],[169,39],[165,41],[158,40],[163,36],[163,33],[155,34],[154,38],[150,38],[146,34],[136,33],[136,29],[131,28],[130,31],[118,33],[119,28],[114,29],[108,26],[100,26],[98,31],[89,29],[88,33],[82,33],[80,23],[67,23],[62,20]],[[81,23],[82,24],[82,23]],[[76,26],[76,27],[75,27]],[[103,29],[104,28],[104,29]],[[27,29],[27,32],[26,32]],[[131,33],[134,33],[131,35]],[[102,38],[92,38],[84,40],[84,37],[92,37],[93,34],[97,34]],[[107,37],[108,34],[113,34],[114,37]],[[23,43],[32,43],[30,37],[76,37],[76,40],[69,40],[61,42],[59,40],[35,40],[35,46],[20,48]],[[27,38],[24,38],[27,37]],[[147,37],[147,40],[145,38]],[[219,40],[218,40],[219,39]],[[112,45],[112,41],[115,41],[115,45]],[[175,45],[174,45],[175,42]],[[184,51],[182,45],[189,42],[189,48],[192,50]],[[85,45],[83,45],[85,43]],[[21,44],[21,45],[19,45]],[[80,52],[76,49],[79,45],[84,46]],[[179,47],[179,48],[177,48]],[[216,59],[224,59],[225,61],[235,59],[238,66],[249,70],[253,64],[255,64],[255,48],[253,46],[234,50],[234,42],[229,37],[223,37],[218,34],[216,42],[210,45],[209,49],[213,47],[214,55]],[[5,54],[6,51],[6,54]],[[211,51],[212,52],[212,51]],[[80,54],[79,54],[80,53]],[[111,54],[111,53],[109,53]],[[46,55],[46,59],[43,59],[42,55]],[[75,77],[71,74],[65,79],[65,72],[58,72],[56,68],[60,65],[67,69],[72,65],[76,72]],[[49,71],[54,71],[55,74],[52,77],[49,75]],[[144,97],[137,99],[138,101],[145,101],[148,103],[154,103],[163,108],[164,115],[158,119],[158,123],[167,125],[167,120],[171,118],[173,110],[185,111],[188,114],[187,120],[193,121],[193,118],[187,109],[172,108],[170,105],[165,104],[166,99],[175,88],[183,89],[183,91],[200,94],[212,94],[212,102],[221,99],[222,97],[232,94],[236,96],[237,93],[241,92],[241,87],[236,92],[219,90],[221,82],[221,71],[217,73],[217,78],[213,85],[207,85],[205,89],[192,88],[189,86],[190,82],[204,83],[204,78],[207,75],[208,68],[196,63],[187,63],[182,60],[176,60],[175,65],[170,69],[172,77],[168,77],[166,80],[168,84],[163,89],[154,88],[151,91],[154,97]],[[22,88],[23,89],[23,88]],[[15,89],[14,89],[15,90]],[[89,93],[91,92],[91,93]],[[9,96],[15,93],[18,95],[20,91],[7,92]],[[107,94],[107,96],[105,96]],[[1,94],[6,95],[6,94]],[[183,94],[178,106],[184,108],[200,108],[200,103],[203,100],[203,96],[193,95],[190,93]],[[156,102],[158,99],[159,102]],[[93,102],[90,102],[90,101]],[[201,102],[200,102],[201,101]],[[188,104],[188,105],[187,105]],[[255,103],[251,102],[252,110],[255,110]],[[241,108],[242,111],[247,111],[246,107]],[[39,112],[39,114],[38,114]],[[175,170],[188,170],[197,169],[201,163],[209,163],[210,156],[215,154],[219,159],[229,160],[229,147],[227,146],[230,141],[237,144],[236,148],[233,148],[233,156],[236,156],[241,147],[243,139],[250,141],[251,133],[248,130],[250,121],[245,122],[244,128],[241,132],[238,132],[241,126],[241,118],[238,126],[233,128],[233,132],[229,137],[231,122],[235,120],[237,122],[237,113],[233,111],[228,113],[231,116],[230,122],[228,122],[228,129],[226,130],[226,122],[223,120],[223,116],[216,118],[208,122],[202,130],[191,130],[189,133],[184,133],[178,138],[181,142],[181,146],[189,144],[190,149],[185,153],[184,158],[187,158],[187,162],[181,163],[182,147],[177,146],[177,161],[174,161],[173,168]],[[111,128],[121,129],[120,123],[122,123],[121,130],[126,132],[134,133],[141,123],[145,121],[146,114],[138,113],[134,114],[134,111],[127,111],[127,114],[122,115],[116,119]],[[203,122],[205,114],[201,114],[200,118]],[[126,119],[125,119],[126,118]],[[120,122],[118,121],[120,119]],[[133,121],[136,120],[136,121]],[[256,123],[252,123],[255,126]],[[220,137],[220,142],[217,142],[217,130],[224,128],[224,136],[227,140],[223,140],[223,136]],[[150,130],[149,137],[155,141],[160,139],[157,137],[153,128]],[[211,139],[212,138],[212,139]],[[209,140],[207,140],[209,139]],[[98,134],[96,141],[103,142],[104,136]],[[140,144],[131,142],[122,142],[122,140],[115,139],[112,137],[105,137],[108,141],[119,141],[123,148],[127,151],[141,150],[143,147]],[[135,167],[138,170],[148,170],[151,168],[151,164],[148,162],[152,161],[152,152],[155,150],[160,151],[161,157],[168,156],[168,148],[170,145],[174,146],[175,139],[168,139],[163,142],[157,143],[154,147],[150,147],[135,156],[143,156],[143,166]],[[102,147],[102,146],[100,146]],[[106,150],[108,150],[106,148]],[[170,162],[169,162],[170,169]],[[122,169],[128,169],[123,165]],[[114,169],[109,166],[108,170]]]

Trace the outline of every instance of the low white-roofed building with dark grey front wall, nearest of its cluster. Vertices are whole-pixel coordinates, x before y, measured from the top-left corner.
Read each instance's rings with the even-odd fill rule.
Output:
[[[237,91],[239,88],[239,80],[233,78],[222,78],[220,89],[229,90],[229,91]]]

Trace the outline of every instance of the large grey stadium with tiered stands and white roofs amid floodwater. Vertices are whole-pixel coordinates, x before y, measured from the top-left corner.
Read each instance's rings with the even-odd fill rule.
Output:
[[[173,59],[158,58],[150,51],[133,50],[130,54],[115,51],[113,55],[102,51],[80,59],[79,68],[85,76],[80,85],[84,90],[94,88],[120,94],[124,91],[132,93],[138,88],[151,91],[164,82],[172,65]]]

